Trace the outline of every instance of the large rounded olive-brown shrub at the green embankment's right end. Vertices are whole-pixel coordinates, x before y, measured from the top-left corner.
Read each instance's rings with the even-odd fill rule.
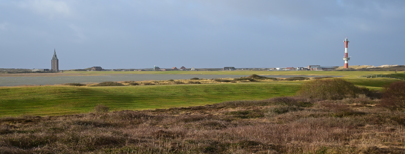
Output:
[[[354,98],[360,92],[360,89],[351,82],[347,82],[341,78],[332,78],[306,82],[301,86],[298,95],[309,98],[338,100]]]

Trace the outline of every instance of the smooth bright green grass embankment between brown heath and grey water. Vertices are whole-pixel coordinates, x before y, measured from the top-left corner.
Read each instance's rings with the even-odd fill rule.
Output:
[[[0,87],[0,116],[84,113],[99,103],[112,110],[187,107],[294,95],[299,87],[299,84],[281,83]]]

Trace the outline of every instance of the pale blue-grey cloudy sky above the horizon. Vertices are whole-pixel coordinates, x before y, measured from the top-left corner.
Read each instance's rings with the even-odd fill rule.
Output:
[[[0,68],[405,65],[404,0],[1,0]]]

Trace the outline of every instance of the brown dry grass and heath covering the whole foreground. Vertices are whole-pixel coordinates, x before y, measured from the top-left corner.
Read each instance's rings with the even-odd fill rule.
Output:
[[[405,112],[376,104],[379,100],[364,96],[336,101],[283,97],[189,108],[6,117],[0,119],[0,151],[403,153]]]

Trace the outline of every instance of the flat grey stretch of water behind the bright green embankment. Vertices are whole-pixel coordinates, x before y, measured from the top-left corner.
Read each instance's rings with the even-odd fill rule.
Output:
[[[109,76],[20,76],[20,77],[0,77],[0,86],[19,85],[54,85],[64,83],[98,83],[104,81],[144,81],[144,80],[170,80],[170,79],[190,79],[190,78],[239,78],[248,75],[207,75],[207,74],[120,74]],[[272,78],[289,78],[294,76],[268,76]],[[303,76],[322,77],[322,76]],[[340,77],[340,76],[333,76]]]

